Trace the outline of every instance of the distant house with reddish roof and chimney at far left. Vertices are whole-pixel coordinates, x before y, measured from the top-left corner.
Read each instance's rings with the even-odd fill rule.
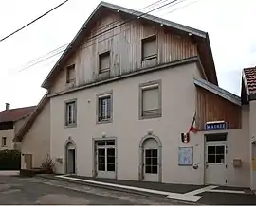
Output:
[[[6,103],[6,110],[0,112],[0,150],[20,149],[20,146],[13,142],[13,138],[35,109],[35,106],[15,109],[9,107],[9,103]]]

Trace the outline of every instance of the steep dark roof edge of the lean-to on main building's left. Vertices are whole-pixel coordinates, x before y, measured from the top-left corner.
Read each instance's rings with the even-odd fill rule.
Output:
[[[31,113],[30,117],[27,119],[27,122],[22,126],[22,128],[15,135],[14,142],[21,142],[24,138],[24,135],[27,133],[28,129],[30,129],[33,126],[36,118],[43,111],[44,107],[46,106],[46,103],[49,100],[47,95],[48,95],[48,92],[46,92],[46,94],[40,100],[38,105],[35,107],[35,110]]]

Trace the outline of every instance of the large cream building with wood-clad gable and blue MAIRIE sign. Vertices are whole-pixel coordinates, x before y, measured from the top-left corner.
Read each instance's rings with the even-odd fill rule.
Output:
[[[256,186],[253,106],[218,86],[206,32],[101,2],[42,87],[47,103],[19,139],[36,156],[29,138],[50,137],[56,173]]]

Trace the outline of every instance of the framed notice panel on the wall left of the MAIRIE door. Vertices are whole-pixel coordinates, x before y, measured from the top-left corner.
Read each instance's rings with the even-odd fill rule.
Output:
[[[192,166],[192,146],[178,148],[178,165]]]

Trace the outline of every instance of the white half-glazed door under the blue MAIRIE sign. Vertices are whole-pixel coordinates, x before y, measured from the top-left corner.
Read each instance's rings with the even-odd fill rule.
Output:
[[[225,185],[227,183],[226,153],[226,142],[206,143],[205,178],[207,184]]]

